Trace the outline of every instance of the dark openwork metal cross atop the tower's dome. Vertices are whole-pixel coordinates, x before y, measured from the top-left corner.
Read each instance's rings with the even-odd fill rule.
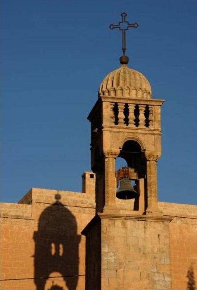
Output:
[[[109,26],[110,29],[114,29],[114,28],[119,28],[119,30],[122,31],[122,41],[123,41],[123,47],[122,47],[122,51],[123,51],[123,55],[125,55],[125,51],[126,51],[126,30],[128,30],[130,27],[138,27],[138,23],[135,22],[133,24],[130,24],[128,21],[126,21],[126,16],[127,13],[123,12],[121,14],[122,16],[122,21],[119,22],[119,24],[111,24]]]

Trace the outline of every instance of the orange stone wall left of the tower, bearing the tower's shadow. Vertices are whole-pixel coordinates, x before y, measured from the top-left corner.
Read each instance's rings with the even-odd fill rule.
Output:
[[[94,216],[94,199],[44,189],[28,195],[23,201],[32,204],[1,204],[1,289],[84,289],[81,231]]]

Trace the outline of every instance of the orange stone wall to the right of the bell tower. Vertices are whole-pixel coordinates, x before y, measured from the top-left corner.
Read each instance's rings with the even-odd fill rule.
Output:
[[[170,223],[172,290],[197,287],[197,207],[189,204],[162,203]],[[195,282],[194,282],[195,281]],[[187,288],[190,287],[193,288]]]

